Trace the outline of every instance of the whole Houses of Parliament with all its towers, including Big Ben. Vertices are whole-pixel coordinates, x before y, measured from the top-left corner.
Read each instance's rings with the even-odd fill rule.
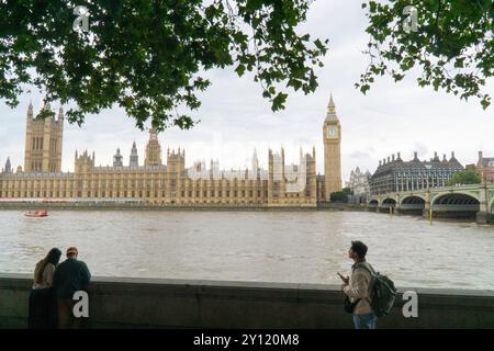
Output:
[[[50,110],[49,103],[43,109]],[[8,158],[0,173],[0,200],[133,202],[157,206],[317,207],[341,190],[341,126],[333,97],[323,123],[324,172],[316,174],[315,148],[300,151],[299,165],[285,165],[284,150],[269,150],[268,170],[254,151],[246,170],[221,170],[217,162],[186,168],[186,151],[168,149],[166,163],[157,133],[149,131],[144,165],[135,143],[128,166],[121,150],[112,167],[97,167],[94,152],[76,151],[74,172],[61,172],[64,111],[57,118],[37,120],[30,103],[26,116],[24,168],[13,171]]]

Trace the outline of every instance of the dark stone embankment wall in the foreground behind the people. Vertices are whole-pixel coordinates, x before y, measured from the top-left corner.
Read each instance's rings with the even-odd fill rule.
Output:
[[[25,328],[31,274],[0,274],[0,328]],[[494,292],[414,290],[418,317],[401,292],[379,328],[494,328]],[[338,286],[292,283],[94,278],[89,328],[352,328]]]

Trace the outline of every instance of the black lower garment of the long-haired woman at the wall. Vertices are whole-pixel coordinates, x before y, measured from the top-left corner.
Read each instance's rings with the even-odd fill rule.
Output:
[[[32,290],[27,328],[55,329],[57,327],[56,297],[52,287]]]

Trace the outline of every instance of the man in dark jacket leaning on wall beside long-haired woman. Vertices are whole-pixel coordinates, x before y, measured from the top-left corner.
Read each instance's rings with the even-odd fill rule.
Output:
[[[58,328],[79,328],[80,318],[74,316],[74,306],[77,301],[74,294],[87,291],[91,273],[85,262],[77,260],[77,248],[67,249],[67,260],[58,264],[53,276],[53,286],[58,304]]]

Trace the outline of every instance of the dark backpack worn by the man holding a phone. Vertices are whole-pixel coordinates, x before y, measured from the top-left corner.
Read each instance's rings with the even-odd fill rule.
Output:
[[[396,298],[396,288],[394,283],[386,275],[382,275],[375,272],[372,265],[369,263],[359,263],[355,267],[362,268],[371,275],[370,301],[372,312],[377,317],[385,316],[393,308],[394,301]]]

